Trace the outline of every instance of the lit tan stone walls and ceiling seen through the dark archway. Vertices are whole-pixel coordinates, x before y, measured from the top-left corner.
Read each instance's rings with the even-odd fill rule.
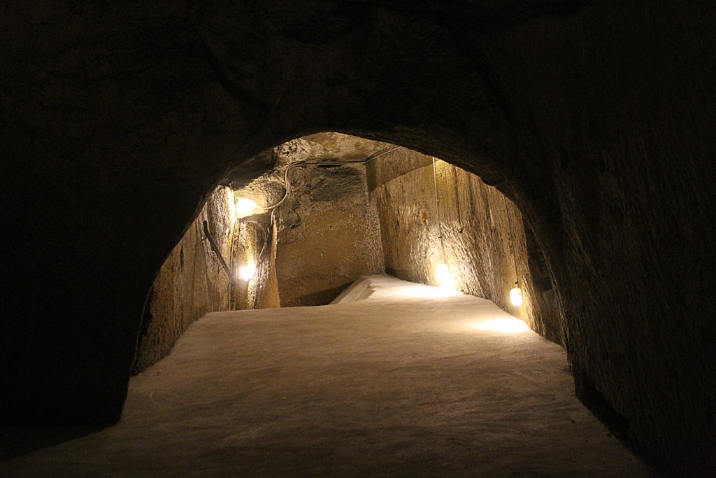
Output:
[[[516,206],[477,176],[339,133],[261,156],[274,168],[218,187],[165,260],[147,295],[135,373],[207,312],[324,305],[383,272],[488,298],[561,343],[541,251],[532,238],[528,249]],[[513,289],[525,290],[523,306]]]

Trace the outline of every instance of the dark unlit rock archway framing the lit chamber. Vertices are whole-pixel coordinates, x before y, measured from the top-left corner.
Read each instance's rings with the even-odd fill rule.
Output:
[[[715,460],[710,2],[26,2],[3,19],[4,422],[117,420],[145,293],[205,196],[335,130],[513,199],[581,398],[657,461]]]

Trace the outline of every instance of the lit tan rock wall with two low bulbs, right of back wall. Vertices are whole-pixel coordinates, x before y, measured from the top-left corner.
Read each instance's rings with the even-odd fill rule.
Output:
[[[474,174],[439,159],[434,168],[430,156],[405,148],[367,170],[387,272],[440,286],[437,266],[445,262],[455,290],[488,298],[561,343],[558,315],[533,303],[522,215],[512,201]],[[523,290],[520,307],[509,299],[515,282]]]

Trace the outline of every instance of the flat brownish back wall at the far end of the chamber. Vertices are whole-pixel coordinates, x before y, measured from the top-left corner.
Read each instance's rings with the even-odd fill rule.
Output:
[[[378,218],[364,166],[299,169],[281,209],[281,305],[323,305],[362,275],[383,272]]]

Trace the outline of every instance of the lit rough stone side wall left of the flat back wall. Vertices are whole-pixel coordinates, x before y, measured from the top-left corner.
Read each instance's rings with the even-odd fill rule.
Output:
[[[204,221],[231,279],[205,236]],[[237,217],[233,190],[216,188],[154,279],[132,373],[168,355],[188,325],[208,312],[280,307],[276,242],[269,216]],[[242,279],[238,271],[249,262],[256,273]]]

